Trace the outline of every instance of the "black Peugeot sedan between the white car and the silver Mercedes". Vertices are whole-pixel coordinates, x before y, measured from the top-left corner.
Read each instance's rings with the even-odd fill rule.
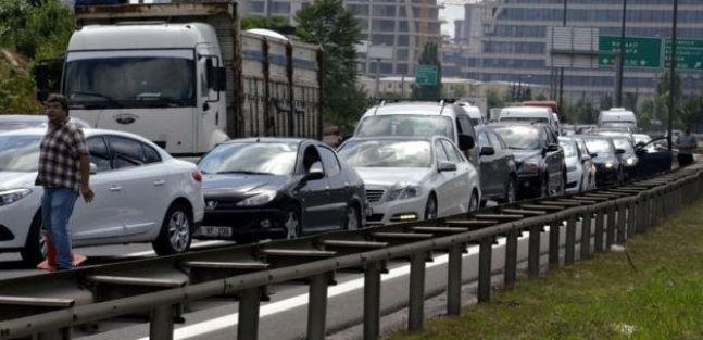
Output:
[[[249,138],[217,146],[198,161],[205,199],[193,238],[253,241],[363,226],[359,174],[325,143]]]

